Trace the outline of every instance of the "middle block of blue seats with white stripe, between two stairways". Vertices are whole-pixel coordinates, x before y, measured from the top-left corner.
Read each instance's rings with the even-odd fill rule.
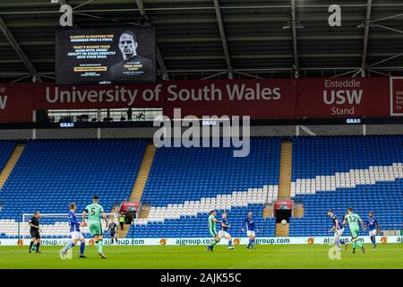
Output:
[[[274,220],[263,228],[262,208],[277,199],[279,154],[279,138],[253,138],[245,158],[234,158],[233,148],[160,148],[141,197],[151,204],[149,218],[138,220],[128,236],[208,236],[208,213],[215,208],[227,211],[234,236],[241,235],[248,210],[273,236]],[[184,228],[189,224],[191,231]]]

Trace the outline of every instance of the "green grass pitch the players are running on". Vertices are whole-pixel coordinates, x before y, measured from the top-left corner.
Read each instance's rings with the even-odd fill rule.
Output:
[[[107,259],[101,259],[93,246],[86,247],[88,258],[59,258],[60,247],[42,247],[42,254],[29,254],[27,247],[0,247],[0,268],[403,268],[403,244],[383,244],[366,253],[352,254],[351,246],[341,259],[330,260],[329,245],[262,245],[253,250],[236,246],[227,250],[217,246],[209,252],[204,246],[105,247]]]

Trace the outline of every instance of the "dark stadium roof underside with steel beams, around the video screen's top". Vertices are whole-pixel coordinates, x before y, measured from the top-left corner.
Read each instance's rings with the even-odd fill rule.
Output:
[[[401,0],[58,2],[0,0],[0,82],[52,81],[64,3],[76,27],[155,26],[159,79],[403,74]],[[330,4],[341,27],[328,24]]]

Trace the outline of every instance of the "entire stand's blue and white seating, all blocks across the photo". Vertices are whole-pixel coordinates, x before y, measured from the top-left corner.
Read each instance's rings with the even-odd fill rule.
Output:
[[[0,191],[0,238],[16,237],[18,213],[67,213],[72,200],[80,212],[94,194],[110,211],[130,196],[146,142],[30,141]],[[403,136],[297,137],[292,142],[291,197],[304,204],[304,217],[290,218],[290,236],[328,236],[328,209],[342,217],[348,206],[363,220],[373,211],[382,230],[403,230]],[[250,210],[258,236],[275,236],[275,219],[263,219],[262,210],[278,198],[280,143],[281,138],[253,138],[246,158],[234,158],[233,148],[158,149],[141,197],[150,205],[149,216],[135,220],[127,237],[208,237],[211,209],[219,210],[218,217],[227,211],[235,237],[244,235],[242,223]],[[0,142],[1,167],[15,144]],[[45,237],[68,234],[63,218],[42,223]]]

